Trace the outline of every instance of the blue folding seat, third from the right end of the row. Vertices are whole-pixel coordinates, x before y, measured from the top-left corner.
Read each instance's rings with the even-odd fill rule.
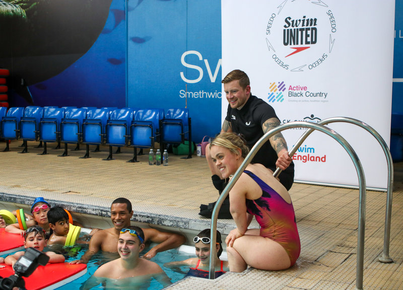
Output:
[[[106,122],[106,144],[109,145],[109,156],[104,160],[112,160],[112,146],[127,146],[129,127],[133,119],[133,109],[123,108],[112,111]]]

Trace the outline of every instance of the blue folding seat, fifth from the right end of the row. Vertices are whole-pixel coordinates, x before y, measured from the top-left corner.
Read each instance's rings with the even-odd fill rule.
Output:
[[[83,119],[87,110],[83,108],[69,108],[64,111],[64,118],[60,122],[60,141],[64,142],[64,152],[60,156],[69,156],[67,144],[76,143],[76,149],[80,150]]]

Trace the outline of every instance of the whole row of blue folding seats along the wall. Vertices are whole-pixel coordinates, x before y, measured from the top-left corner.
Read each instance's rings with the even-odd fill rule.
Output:
[[[137,148],[153,148],[154,142],[159,142],[164,150],[168,143],[183,143],[185,138],[191,140],[191,119],[187,109],[132,109],[132,108],[95,108],[95,107],[11,107],[0,108],[0,136],[6,139],[6,149],[9,151],[8,140],[22,139],[24,150],[28,152],[27,141],[43,142],[43,154],[47,154],[47,142],[64,142],[64,153],[68,156],[67,144],[86,144],[86,154],[89,158],[89,145],[109,146],[109,156],[112,160],[112,146],[133,147],[134,154],[130,162],[137,162]],[[189,155],[191,142],[189,142]]]

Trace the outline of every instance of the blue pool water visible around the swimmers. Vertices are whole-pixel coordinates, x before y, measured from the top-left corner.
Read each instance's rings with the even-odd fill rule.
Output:
[[[50,251],[54,251],[54,252],[59,252],[61,254],[64,255],[64,257],[66,258],[66,262],[69,261],[74,261],[74,260],[78,260],[80,259],[80,257],[82,255],[84,255],[84,253],[87,251],[88,246],[87,245],[80,245],[80,246],[75,246],[75,247],[71,247],[71,248],[61,248],[61,247],[48,247],[45,248],[50,250]],[[144,249],[144,251],[141,253],[145,254],[149,251],[150,247],[147,247],[146,249]],[[2,257],[6,257],[2,256]],[[171,261],[181,261],[181,260],[185,260],[191,257],[195,257],[195,254],[189,254],[189,253],[181,253],[178,252],[177,249],[172,249],[172,250],[168,250],[165,252],[161,252],[158,253],[154,258],[151,259],[151,261],[156,262],[158,265],[161,266],[161,268],[165,271],[165,273],[168,275],[168,277],[171,279],[171,282],[174,283],[180,279],[182,279],[185,274],[183,272],[187,272],[188,268],[187,267],[183,267],[181,268],[181,272],[176,272],[173,271],[170,268],[164,267],[163,264],[166,262],[171,262]],[[88,262],[87,264],[87,273],[84,274],[83,276],[81,276],[80,278],[67,283],[57,289],[60,290],[71,290],[71,289],[79,289],[81,287],[81,285],[87,281],[87,279],[89,277],[91,277],[94,272],[96,271],[96,269],[98,269],[98,267],[106,262],[109,262],[111,260],[117,259],[119,258],[119,255],[116,253],[107,253],[107,252],[99,252],[97,254],[95,254],[91,260]],[[151,280],[150,286],[148,287],[148,290],[159,290],[162,289],[163,286],[154,278]],[[93,287],[92,289],[104,289],[104,287],[99,284],[98,286]],[[108,288],[108,290],[111,290],[110,288]]]

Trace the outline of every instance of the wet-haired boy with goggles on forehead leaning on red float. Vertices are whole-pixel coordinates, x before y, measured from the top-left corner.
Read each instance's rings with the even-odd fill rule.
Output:
[[[27,229],[24,233],[24,247],[27,248],[35,248],[38,251],[43,251],[43,248],[46,247],[46,232],[39,226],[32,226]],[[6,265],[14,266],[17,260],[25,254],[25,251],[19,251],[13,255],[9,255],[5,259]],[[54,252],[45,252],[47,256],[49,256],[48,263],[62,263],[64,262],[64,256],[60,254],[56,254]]]

